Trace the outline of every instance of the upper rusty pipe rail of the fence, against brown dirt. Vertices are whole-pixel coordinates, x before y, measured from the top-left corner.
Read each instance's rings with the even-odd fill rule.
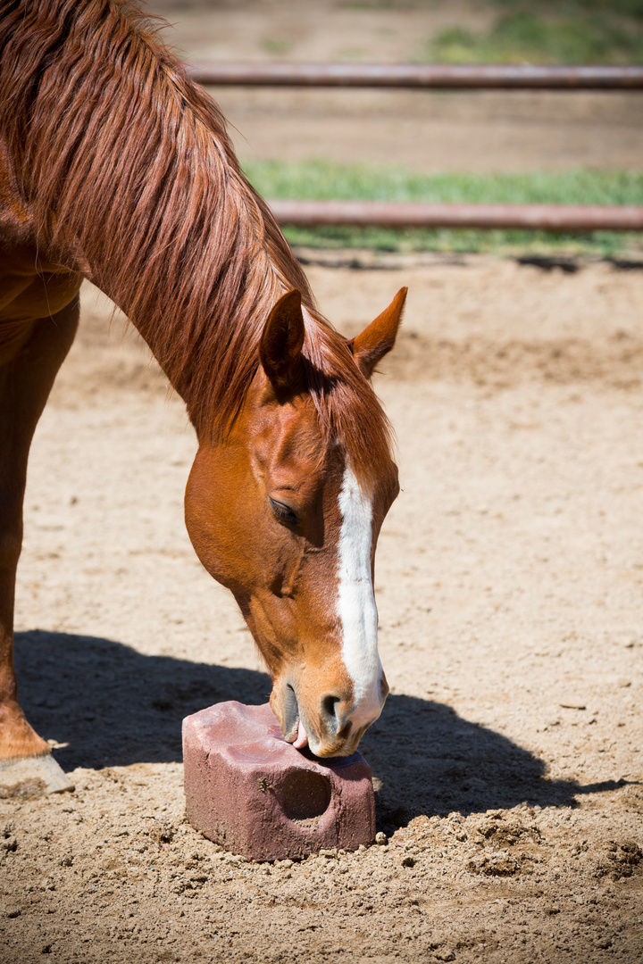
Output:
[[[199,84],[234,87],[377,87],[434,91],[640,91],[643,67],[453,64],[199,63]]]

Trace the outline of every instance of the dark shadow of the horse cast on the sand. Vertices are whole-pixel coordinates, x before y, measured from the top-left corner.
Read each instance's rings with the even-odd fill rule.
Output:
[[[16,633],[15,661],[23,709],[41,736],[67,744],[56,750],[67,771],[178,762],[184,716],[223,700],[266,703],[271,689],[254,670],[38,629]],[[406,695],[388,697],[361,750],[373,769],[378,826],[387,832],[421,814],[574,807],[579,794],[623,784],[550,780],[547,763],[506,736]]]

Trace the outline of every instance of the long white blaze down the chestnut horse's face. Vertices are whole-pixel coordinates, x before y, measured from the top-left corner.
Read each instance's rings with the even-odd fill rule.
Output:
[[[337,614],[342,628],[342,657],[355,689],[354,730],[371,723],[382,711],[382,663],[377,652],[377,608],[370,555],[373,507],[347,465],[339,493],[341,531],[337,575]]]

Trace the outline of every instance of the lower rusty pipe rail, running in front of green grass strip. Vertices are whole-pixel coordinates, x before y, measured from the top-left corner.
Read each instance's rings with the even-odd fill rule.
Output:
[[[316,228],[517,228],[640,231],[643,207],[594,204],[446,204],[396,201],[268,201],[282,225]]]

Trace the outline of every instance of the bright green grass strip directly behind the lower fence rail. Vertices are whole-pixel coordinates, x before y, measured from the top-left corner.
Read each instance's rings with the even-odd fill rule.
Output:
[[[564,174],[416,174],[400,167],[330,161],[259,161],[246,174],[266,198],[353,201],[643,205],[643,173],[569,171]],[[630,232],[550,234],[546,231],[284,228],[291,244],[370,248],[392,252],[643,255],[643,237]]]

